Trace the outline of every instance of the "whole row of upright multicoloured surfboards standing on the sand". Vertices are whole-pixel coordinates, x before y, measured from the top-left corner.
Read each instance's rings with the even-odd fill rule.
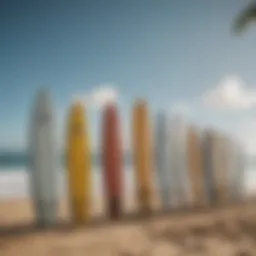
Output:
[[[57,221],[57,172],[54,111],[48,91],[35,101],[29,131],[31,193],[37,223]],[[89,125],[84,106],[75,102],[67,120],[66,165],[73,220],[91,216],[92,162]],[[147,103],[138,100],[132,113],[132,151],[137,199],[150,211],[153,171],[164,209],[203,206],[238,200],[242,195],[242,147],[213,131],[199,132],[179,116],[164,112],[151,123]],[[123,150],[118,108],[107,104],[102,114],[102,171],[110,218],[122,214]]]

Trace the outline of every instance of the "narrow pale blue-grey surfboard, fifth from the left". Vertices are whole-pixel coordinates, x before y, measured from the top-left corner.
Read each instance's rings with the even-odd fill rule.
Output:
[[[170,207],[171,199],[171,166],[169,146],[169,117],[163,111],[158,112],[155,120],[155,168],[164,209]]]

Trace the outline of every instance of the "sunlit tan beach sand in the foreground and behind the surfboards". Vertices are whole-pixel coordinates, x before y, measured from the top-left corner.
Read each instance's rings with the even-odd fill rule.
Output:
[[[94,214],[103,214],[103,202],[97,205]],[[127,211],[134,209],[135,203],[127,204]],[[1,227],[33,221],[27,199],[1,202],[0,214]],[[63,201],[60,217],[67,221],[68,216],[67,202]],[[256,203],[247,203],[89,227],[1,233],[0,255],[256,255],[255,216]]]

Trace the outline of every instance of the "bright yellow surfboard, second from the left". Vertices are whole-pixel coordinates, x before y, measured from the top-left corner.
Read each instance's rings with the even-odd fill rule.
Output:
[[[85,109],[71,106],[68,120],[67,164],[71,212],[74,222],[84,222],[91,214],[91,154]]]

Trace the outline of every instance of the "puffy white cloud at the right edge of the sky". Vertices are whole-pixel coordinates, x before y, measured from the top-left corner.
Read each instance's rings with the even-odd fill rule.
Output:
[[[256,106],[256,90],[237,76],[228,76],[203,95],[203,104],[213,109],[249,109]]]

